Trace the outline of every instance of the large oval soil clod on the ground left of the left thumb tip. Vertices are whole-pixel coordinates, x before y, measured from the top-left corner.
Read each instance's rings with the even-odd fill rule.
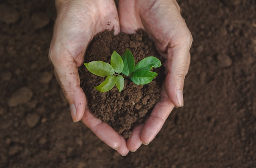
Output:
[[[21,87],[9,98],[7,104],[14,107],[27,103],[33,96],[33,92],[28,87]]]

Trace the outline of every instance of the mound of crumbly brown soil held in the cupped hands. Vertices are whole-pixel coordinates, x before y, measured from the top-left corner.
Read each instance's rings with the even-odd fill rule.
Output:
[[[114,50],[122,55],[126,49],[132,52],[135,64],[149,56],[161,59],[153,42],[144,31],[138,31],[133,35],[119,33],[114,36],[113,33],[113,31],[104,31],[94,37],[85,54],[85,62],[101,60],[110,63]],[[131,136],[135,125],[145,121],[155,103],[160,100],[160,90],[164,80],[163,67],[153,68],[158,75],[147,85],[135,85],[126,78],[125,87],[121,92],[114,87],[109,92],[103,93],[92,86],[99,85],[105,78],[91,74],[84,65],[79,69],[81,87],[88,97],[90,110],[96,118],[108,123],[125,138]]]

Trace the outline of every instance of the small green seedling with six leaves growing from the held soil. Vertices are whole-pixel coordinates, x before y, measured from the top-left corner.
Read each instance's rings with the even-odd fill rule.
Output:
[[[100,92],[108,92],[117,85],[121,92],[124,89],[124,78],[130,78],[136,85],[146,85],[157,76],[156,72],[150,70],[158,68],[162,64],[159,59],[150,56],[142,59],[135,66],[134,57],[127,49],[122,56],[114,51],[110,58],[110,64],[103,61],[92,61],[84,63],[84,65],[92,74],[101,77],[107,76],[105,81],[94,87],[95,89]]]

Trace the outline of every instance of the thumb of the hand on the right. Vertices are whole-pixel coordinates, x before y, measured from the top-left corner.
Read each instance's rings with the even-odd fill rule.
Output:
[[[176,107],[184,106],[183,86],[184,79],[189,70],[192,36],[187,28],[180,32],[180,37],[173,37],[177,41],[171,41],[167,49],[167,75],[166,91],[172,103]]]

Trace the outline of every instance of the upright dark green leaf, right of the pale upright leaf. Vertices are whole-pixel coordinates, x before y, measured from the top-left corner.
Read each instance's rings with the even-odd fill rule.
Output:
[[[124,69],[122,73],[126,76],[129,76],[135,67],[135,61],[132,53],[127,49],[126,52],[121,56],[124,61]]]

